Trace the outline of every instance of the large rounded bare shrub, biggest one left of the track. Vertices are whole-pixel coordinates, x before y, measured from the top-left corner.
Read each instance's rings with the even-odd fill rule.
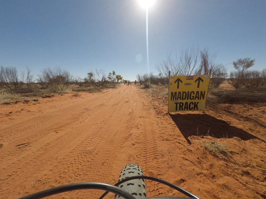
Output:
[[[42,88],[61,92],[65,91],[72,83],[72,75],[60,67],[46,68],[41,70],[41,74],[38,74],[37,81]]]

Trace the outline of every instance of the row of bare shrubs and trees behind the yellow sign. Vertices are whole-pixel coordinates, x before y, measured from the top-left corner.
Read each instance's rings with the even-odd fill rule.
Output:
[[[256,89],[266,84],[266,69],[249,70],[255,60],[246,57],[233,62],[235,70],[228,71],[225,65],[216,63],[216,53],[210,53],[209,48],[200,50],[198,46],[182,49],[179,54],[174,56],[168,54],[165,59],[155,65],[159,75],[138,74],[137,80],[145,88],[151,88],[152,85],[168,85],[168,75],[203,75],[210,74],[209,89],[218,88],[225,80],[235,89],[247,88]]]

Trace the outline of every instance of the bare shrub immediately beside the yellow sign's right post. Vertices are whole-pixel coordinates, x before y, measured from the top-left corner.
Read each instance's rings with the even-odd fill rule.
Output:
[[[224,65],[219,64],[212,69],[209,88],[218,88],[227,78],[227,69]]]

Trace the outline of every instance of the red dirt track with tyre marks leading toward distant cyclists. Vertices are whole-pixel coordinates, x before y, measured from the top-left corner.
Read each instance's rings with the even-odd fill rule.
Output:
[[[115,183],[130,162],[160,172],[154,133],[158,126],[149,103],[136,88],[119,86],[82,98],[48,101],[52,99],[1,109],[14,114],[1,121],[0,198],[18,198],[74,182]],[[15,115],[22,107],[24,115]],[[15,147],[26,142],[30,145]],[[100,194],[91,193],[74,191],[53,198],[97,198]]]

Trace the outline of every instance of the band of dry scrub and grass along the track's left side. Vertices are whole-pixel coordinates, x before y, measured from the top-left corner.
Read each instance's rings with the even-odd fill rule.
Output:
[[[30,68],[18,71],[15,67],[0,68],[0,103],[15,102],[29,97],[43,97],[48,93],[74,92],[80,97],[80,92],[97,92],[106,88],[115,88],[123,80],[115,71],[106,75],[102,69],[90,71],[85,78],[73,76],[68,70],[59,66],[45,68],[36,75]]]

